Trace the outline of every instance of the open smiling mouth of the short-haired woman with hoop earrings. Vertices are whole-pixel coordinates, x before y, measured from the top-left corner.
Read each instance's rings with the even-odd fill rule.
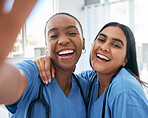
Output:
[[[71,59],[73,57],[75,50],[73,49],[64,49],[57,52],[60,59]]]

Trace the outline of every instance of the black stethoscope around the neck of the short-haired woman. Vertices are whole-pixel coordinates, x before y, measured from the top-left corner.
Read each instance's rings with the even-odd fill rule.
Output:
[[[84,101],[84,104],[85,104],[85,97],[84,97],[84,93],[83,93],[83,90],[82,90],[82,87],[81,87],[81,84],[78,80],[78,78],[76,77],[76,75],[74,73],[72,73],[72,75],[74,76],[79,88],[80,88],[80,92],[81,92],[81,95],[82,95],[82,98],[83,98],[83,101]],[[39,95],[38,95],[38,98],[33,100],[30,105],[29,105],[29,108],[28,108],[28,112],[27,112],[27,118],[30,118],[30,115],[31,115],[31,110],[33,108],[33,106],[35,105],[35,103],[42,103],[45,108],[46,108],[46,118],[49,118],[49,104],[43,99],[43,86],[44,86],[44,83],[41,82],[41,85],[40,85],[40,88],[39,88]]]

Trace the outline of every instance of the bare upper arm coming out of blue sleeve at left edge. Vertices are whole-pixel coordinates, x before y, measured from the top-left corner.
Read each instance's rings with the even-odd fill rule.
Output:
[[[0,104],[10,105],[26,90],[27,77],[22,70],[7,62],[0,69]]]

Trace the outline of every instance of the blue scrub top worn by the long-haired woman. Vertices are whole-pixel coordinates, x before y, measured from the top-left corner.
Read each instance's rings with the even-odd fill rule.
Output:
[[[96,72],[79,74],[90,82]],[[99,80],[95,78],[88,106],[88,118],[102,118],[105,92],[98,98]],[[148,118],[148,99],[139,83],[125,68],[113,79],[106,97],[105,118]]]

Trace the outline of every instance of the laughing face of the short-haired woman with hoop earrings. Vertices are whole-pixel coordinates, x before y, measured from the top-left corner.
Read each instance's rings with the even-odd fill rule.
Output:
[[[58,14],[46,27],[46,46],[57,69],[73,70],[84,48],[82,30],[71,16]]]

